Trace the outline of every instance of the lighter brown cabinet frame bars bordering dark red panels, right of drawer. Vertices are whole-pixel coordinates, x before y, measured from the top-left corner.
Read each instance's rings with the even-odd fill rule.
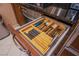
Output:
[[[78,35],[79,35],[79,24],[77,24],[74,31],[71,33],[71,35],[69,36],[69,38],[67,39],[67,41],[65,42],[63,47],[60,49],[60,51],[58,52],[57,55],[58,56],[61,55],[65,49],[68,50],[69,52],[73,53],[74,55],[79,55],[79,53],[77,51],[75,51],[76,49],[73,49],[71,47],[71,44],[74,42],[74,40],[76,39],[76,37]]]

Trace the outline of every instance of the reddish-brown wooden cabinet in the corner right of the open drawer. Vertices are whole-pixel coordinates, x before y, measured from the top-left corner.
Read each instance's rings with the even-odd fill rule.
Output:
[[[58,55],[76,55],[79,56],[79,24],[73,31],[69,39],[59,51]]]

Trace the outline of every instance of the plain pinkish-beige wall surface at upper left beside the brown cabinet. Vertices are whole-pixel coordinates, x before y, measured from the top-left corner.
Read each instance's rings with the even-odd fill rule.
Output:
[[[12,5],[9,3],[0,3],[0,14],[3,17],[4,22],[11,24],[13,27],[18,25]]]

